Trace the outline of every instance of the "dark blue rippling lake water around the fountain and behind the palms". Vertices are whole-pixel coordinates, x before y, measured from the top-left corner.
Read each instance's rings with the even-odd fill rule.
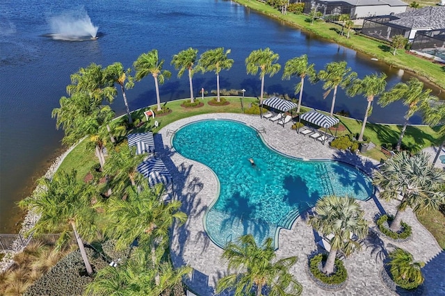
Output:
[[[55,155],[60,154],[62,131],[56,131],[51,110],[58,107],[70,74],[90,63],[103,66],[121,62],[124,67],[143,52],[158,49],[172,79],[161,85],[161,100],[188,96],[188,79],[177,79],[170,66],[172,55],[195,47],[200,53],[215,47],[232,49],[234,66],[220,74],[221,88],[245,88],[246,96],[258,96],[258,76],[245,73],[244,60],[254,49],[270,47],[280,54],[279,62],[307,54],[316,69],[332,61],[346,60],[359,76],[385,72],[388,85],[407,81],[402,70],[375,62],[337,44],[302,33],[259,15],[232,1],[49,1],[3,0],[0,3],[0,231],[15,230],[19,217],[15,202],[29,195],[36,178],[42,176]],[[97,40],[69,42],[49,34],[51,19],[86,11],[99,27]],[[70,21],[67,18],[67,22]],[[296,81],[281,81],[282,72],[266,77],[266,92],[293,94]],[[195,92],[201,87],[216,89],[213,74],[195,74]],[[437,90],[436,90],[437,91]],[[331,100],[322,99],[321,83],[305,84],[303,103],[328,110]],[[154,104],[152,79],[144,79],[128,90],[131,109]],[[336,110],[348,110],[362,118],[366,100],[337,94]],[[124,113],[122,98],[113,109]],[[374,105],[371,122],[403,122],[405,108],[394,104],[385,109]],[[419,123],[414,116],[412,123]]]

